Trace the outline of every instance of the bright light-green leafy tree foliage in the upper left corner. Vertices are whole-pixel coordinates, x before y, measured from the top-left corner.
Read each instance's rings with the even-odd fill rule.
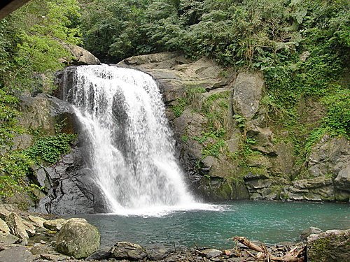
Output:
[[[73,20],[79,17],[76,0],[30,1],[0,22],[0,87],[14,92],[33,91],[41,85],[40,74],[64,66],[71,54],[64,44],[80,43]]]

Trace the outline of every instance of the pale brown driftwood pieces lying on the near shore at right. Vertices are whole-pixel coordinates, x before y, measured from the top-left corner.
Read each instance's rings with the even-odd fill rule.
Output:
[[[293,247],[293,249],[290,249],[283,257],[280,256],[274,256],[272,255],[265,245],[258,246],[255,245],[253,242],[249,241],[247,238],[244,237],[235,237],[233,240],[240,242],[241,244],[245,245],[249,249],[255,250],[256,252],[259,252],[255,256],[251,254],[250,252],[247,252],[249,256],[252,256],[254,259],[260,260],[260,261],[282,261],[282,262],[303,262],[304,257],[299,257],[302,252],[304,252],[304,247]]]

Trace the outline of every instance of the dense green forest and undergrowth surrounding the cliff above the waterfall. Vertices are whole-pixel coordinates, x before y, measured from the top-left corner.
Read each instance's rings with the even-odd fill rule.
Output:
[[[74,136],[36,138],[13,151],[25,132],[18,96],[52,92],[55,72],[80,45],[104,62],[172,51],[209,57],[235,71],[261,71],[262,103],[298,142],[300,158],[324,133],[350,132],[350,11],[346,0],[49,0],[30,1],[0,21],[0,194],[34,191],[33,165],[55,163]],[[298,121],[297,103],[312,96],[327,108],[314,129]]]

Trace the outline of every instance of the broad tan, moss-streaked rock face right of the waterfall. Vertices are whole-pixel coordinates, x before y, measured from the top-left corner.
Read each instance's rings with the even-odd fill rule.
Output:
[[[200,196],[349,201],[349,140],[325,135],[297,166],[290,134],[271,121],[262,103],[260,73],[235,73],[209,59],[190,61],[167,52],[118,65],[158,81],[179,159]],[[325,115],[315,99],[304,98],[298,106],[300,122],[310,131]]]

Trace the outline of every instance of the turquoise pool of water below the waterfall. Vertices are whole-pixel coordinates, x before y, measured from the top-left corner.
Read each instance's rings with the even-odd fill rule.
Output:
[[[123,217],[85,214],[99,228],[102,247],[118,241],[141,245],[232,247],[235,235],[274,244],[295,241],[309,226],[323,231],[350,228],[350,205],[340,203],[294,203],[234,201],[218,205],[220,211],[188,210],[162,217]]]

